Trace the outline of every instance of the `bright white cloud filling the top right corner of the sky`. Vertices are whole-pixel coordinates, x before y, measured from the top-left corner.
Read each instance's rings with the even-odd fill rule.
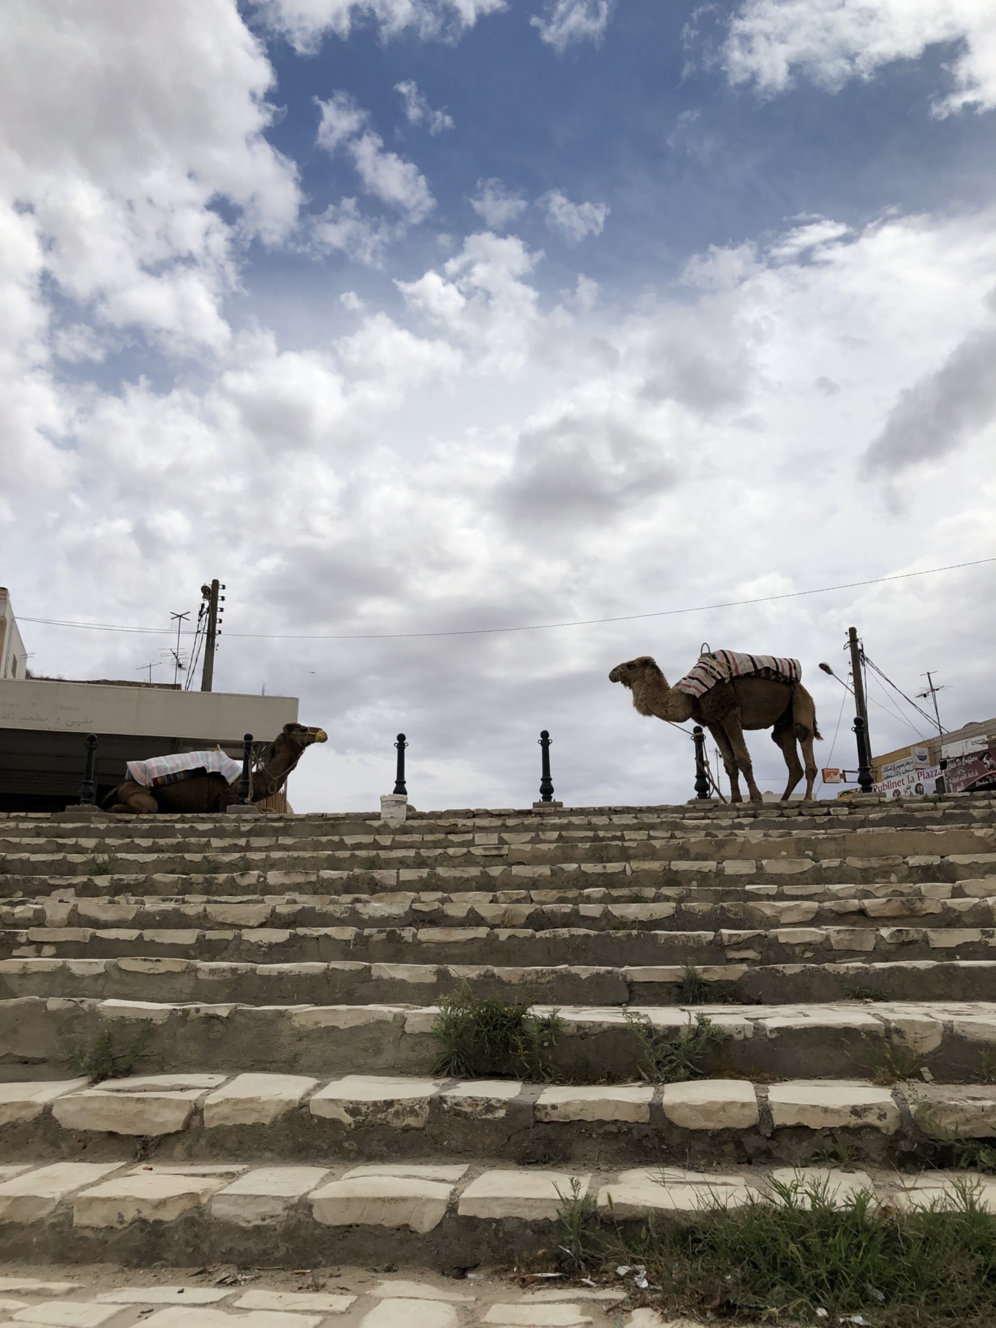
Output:
[[[956,44],[947,116],[996,106],[996,9],[988,0],[746,0],[733,16],[724,64],[734,84],[784,92],[795,76],[837,90],[883,65]]]

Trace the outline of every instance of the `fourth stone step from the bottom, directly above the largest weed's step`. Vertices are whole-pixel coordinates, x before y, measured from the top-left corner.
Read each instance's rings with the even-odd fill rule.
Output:
[[[695,975],[695,976],[692,976]],[[470,989],[513,1004],[996,1000],[996,959],[833,964],[369,964],[157,959],[0,960],[0,999],[271,1004],[422,1004]]]

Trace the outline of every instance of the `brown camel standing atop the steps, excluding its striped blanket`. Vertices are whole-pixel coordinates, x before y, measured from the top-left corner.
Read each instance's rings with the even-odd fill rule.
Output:
[[[772,741],[782,749],[789,768],[789,782],[782,802],[802,778],[795,742],[802,744],[806,762],[806,798],[813,797],[817,766],[813,760],[813,738],[819,738],[817,708],[801,683],[772,677],[733,677],[716,683],[701,696],[689,696],[668,684],[649,655],[616,664],[608,675],[611,683],[622,683],[633,693],[633,709],[640,714],[655,714],[659,720],[683,724],[692,720],[704,724],[720,749],[729,776],[732,801],[742,802],[738,774],[742,773],[750,790],[750,801],[761,802],[761,790],[754,784],[750,753],[744,741],[744,729],[772,729]]]

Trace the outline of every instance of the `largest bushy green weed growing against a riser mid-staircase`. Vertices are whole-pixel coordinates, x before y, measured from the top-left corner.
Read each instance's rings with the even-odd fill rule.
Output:
[[[533,1015],[529,1001],[474,996],[463,987],[437,1000],[432,1036],[441,1044],[433,1074],[507,1076],[543,1084],[558,1077],[551,1052],[563,1028],[556,1011]]]

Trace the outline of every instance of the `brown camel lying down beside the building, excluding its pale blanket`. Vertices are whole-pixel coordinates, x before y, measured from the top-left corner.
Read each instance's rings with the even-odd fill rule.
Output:
[[[287,776],[312,742],[325,742],[324,729],[308,729],[303,724],[284,724],[263,753],[262,765],[252,772],[252,802],[263,802],[278,793]],[[224,811],[239,801],[239,780],[226,782],[223,774],[195,774],[191,780],[159,784],[151,789],[125,780],[108,794],[102,806],[108,811]]]

